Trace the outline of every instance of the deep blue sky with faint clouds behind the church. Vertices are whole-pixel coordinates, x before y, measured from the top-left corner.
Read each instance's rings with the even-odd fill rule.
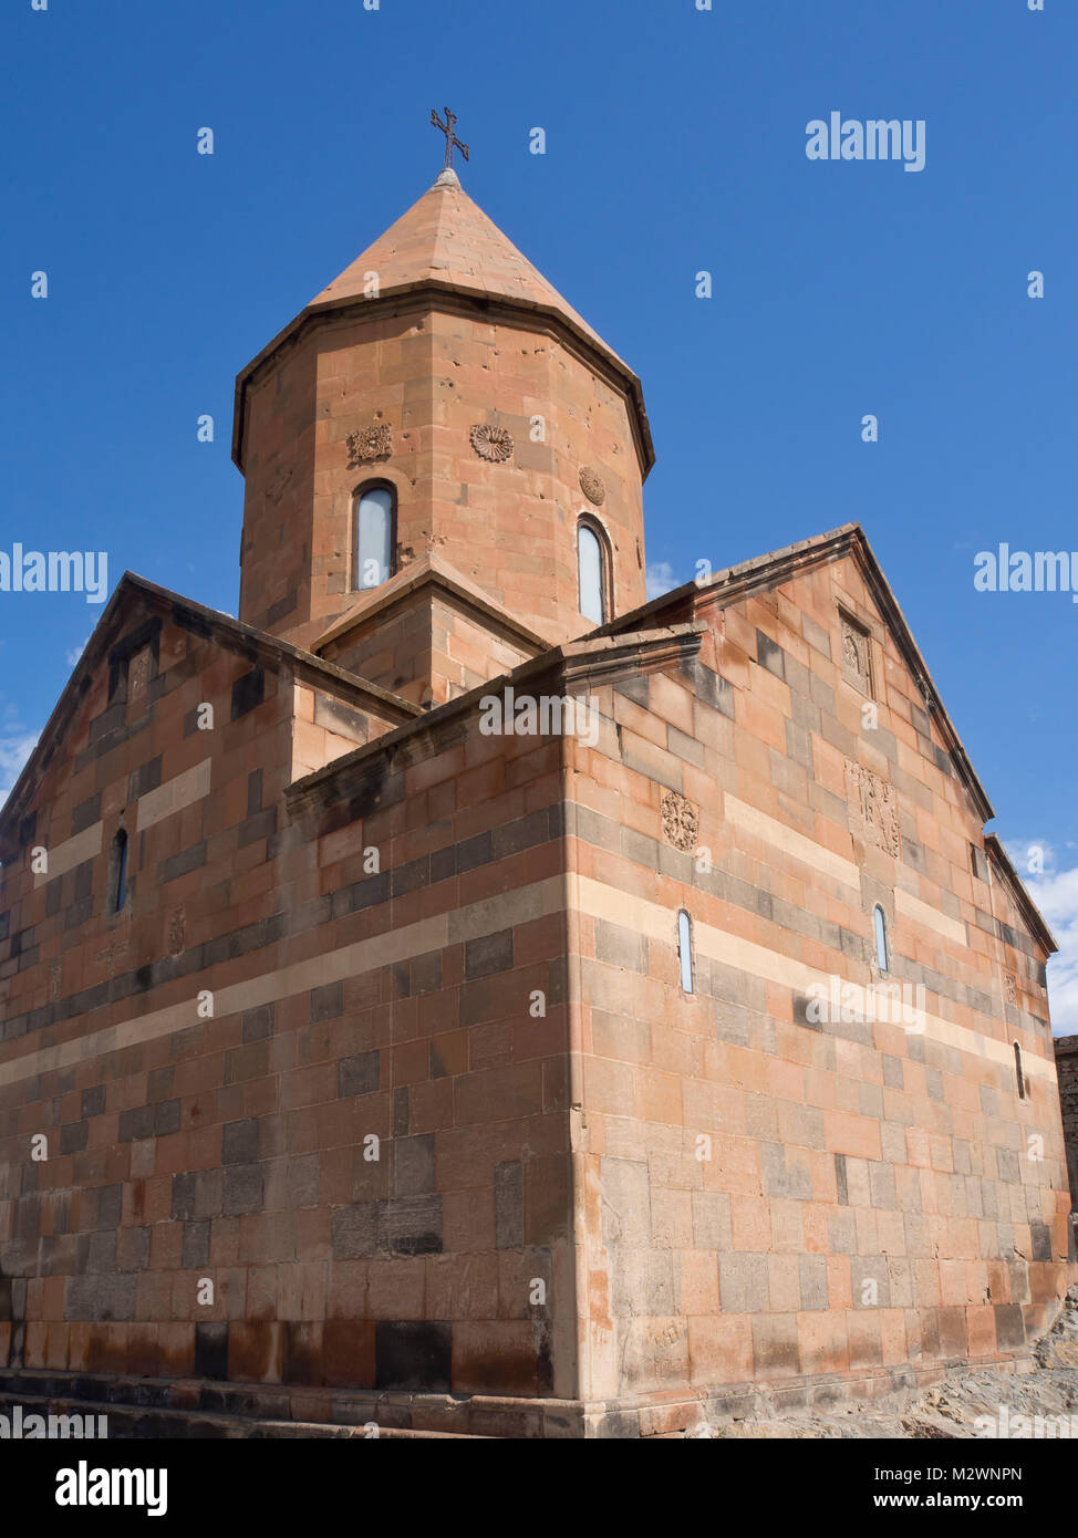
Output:
[[[234,377],[431,185],[449,102],[467,191],[643,378],[655,580],[863,523],[993,829],[1046,849],[1078,1029],[1078,604],[973,589],[1078,549],[1073,5],[9,0],[0,57],[0,548],[234,611]],[[832,111],[924,120],[924,169],[810,161]],[[98,612],[0,594],[0,789]]]

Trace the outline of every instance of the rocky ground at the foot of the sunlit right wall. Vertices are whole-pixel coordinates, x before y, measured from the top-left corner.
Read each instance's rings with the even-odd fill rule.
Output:
[[[993,1429],[977,1426],[990,1416]],[[1029,1430],[1016,1421],[1029,1418]],[[1041,1424],[1032,1418],[1041,1416]],[[1072,1287],[1063,1313],[1041,1338],[1032,1370],[952,1372],[904,1407],[849,1406],[813,1413],[732,1421],[697,1436],[715,1438],[806,1438],[806,1436],[907,1436],[981,1438],[1050,1435],[1049,1416],[1067,1416],[1064,1426],[1078,1438],[1078,1287]]]

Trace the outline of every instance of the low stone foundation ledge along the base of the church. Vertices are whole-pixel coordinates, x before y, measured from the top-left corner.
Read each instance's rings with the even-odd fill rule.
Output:
[[[332,1436],[375,1424],[388,1436],[511,1440],[670,1436],[752,1416],[826,1410],[850,1401],[903,1407],[952,1369],[1026,1372],[1027,1357],[869,1367],[849,1373],[669,1390],[607,1401],[454,1397],[291,1384],[132,1378],[0,1369],[0,1412],[31,1404],[45,1413],[94,1406],[120,1436]]]

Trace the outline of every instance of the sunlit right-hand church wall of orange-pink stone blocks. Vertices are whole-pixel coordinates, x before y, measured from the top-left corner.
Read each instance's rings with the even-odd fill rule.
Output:
[[[709,618],[690,671],[598,691],[601,740],[572,746],[581,1395],[1021,1349],[1067,1257],[1044,958],[973,871],[853,561]],[[921,1032],[806,1012],[813,983],[881,981],[877,903]]]

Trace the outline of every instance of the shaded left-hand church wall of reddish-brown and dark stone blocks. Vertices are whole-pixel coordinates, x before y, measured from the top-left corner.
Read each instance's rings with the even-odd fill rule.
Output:
[[[295,807],[300,695],[166,623],[46,774],[0,920],[0,1363],[572,1392],[560,744],[423,723]]]

